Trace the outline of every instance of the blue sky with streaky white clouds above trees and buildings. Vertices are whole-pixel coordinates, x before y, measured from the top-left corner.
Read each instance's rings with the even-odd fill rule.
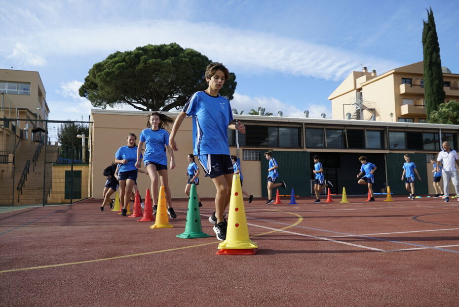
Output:
[[[77,91],[115,51],[177,43],[236,74],[233,108],[331,118],[329,94],[363,66],[378,75],[422,60],[434,12],[442,65],[459,73],[459,5],[444,1],[0,0],[0,67],[40,73],[52,120],[86,120]],[[130,107],[121,107],[130,110]]]

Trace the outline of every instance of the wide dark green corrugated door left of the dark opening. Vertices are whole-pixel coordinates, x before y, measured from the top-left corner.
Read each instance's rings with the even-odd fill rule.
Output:
[[[268,177],[268,160],[266,160],[265,150],[260,151],[261,157],[261,183],[262,196],[268,197],[267,177]],[[287,184],[287,190],[279,187],[281,195],[291,195],[292,188],[295,195],[311,196],[310,188],[310,169],[309,153],[306,151],[273,151],[272,157],[276,160],[279,171],[279,178],[276,182],[284,180]],[[276,195],[275,189],[272,191],[273,197]]]

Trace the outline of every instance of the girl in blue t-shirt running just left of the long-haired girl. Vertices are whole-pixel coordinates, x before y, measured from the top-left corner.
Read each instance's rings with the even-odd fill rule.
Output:
[[[127,205],[131,199],[132,187],[137,180],[137,136],[134,133],[127,135],[127,145],[121,146],[115,153],[115,163],[120,164],[118,172],[119,201],[121,203],[121,215],[126,216]]]

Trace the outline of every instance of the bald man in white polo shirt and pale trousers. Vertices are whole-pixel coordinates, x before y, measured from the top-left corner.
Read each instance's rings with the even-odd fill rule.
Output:
[[[459,158],[456,150],[450,148],[448,142],[443,142],[443,150],[438,153],[437,157],[437,168],[436,171],[440,171],[440,167],[443,165],[442,177],[443,177],[443,189],[445,192],[445,202],[449,202],[449,189],[448,185],[450,179],[453,180],[454,188],[456,190],[456,195],[459,196],[459,180],[458,180],[458,169],[456,169],[456,164],[459,168]],[[459,201],[459,197],[458,197]]]

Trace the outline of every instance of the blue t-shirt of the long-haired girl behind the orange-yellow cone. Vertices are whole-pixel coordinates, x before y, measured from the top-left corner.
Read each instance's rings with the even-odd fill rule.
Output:
[[[153,131],[147,128],[140,132],[140,141],[145,142],[144,163],[154,162],[167,165],[166,147],[169,146],[169,132],[164,129]]]

